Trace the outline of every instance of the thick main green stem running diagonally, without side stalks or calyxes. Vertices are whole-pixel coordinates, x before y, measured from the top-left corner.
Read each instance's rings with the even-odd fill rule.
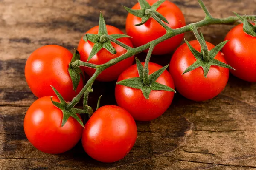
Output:
[[[253,19],[256,16],[247,16],[247,19]],[[175,35],[178,34],[183,34],[185,32],[189,32],[192,30],[193,27],[203,27],[203,26],[208,26],[208,25],[213,25],[213,24],[225,24],[225,25],[233,25],[235,24],[237,21],[239,21],[238,17],[227,17],[227,18],[209,18],[206,17],[204,18],[204,20],[201,20],[197,23],[191,23],[189,25],[183,26],[181,28],[177,28],[177,29],[172,29],[172,31],[167,31],[166,34],[164,34],[162,37],[153,40],[151,42],[148,42],[145,45],[142,45],[140,47],[137,48],[130,48],[125,54],[121,55],[118,58],[115,59],[111,59],[109,62],[103,64],[102,65],[97,65],[96,66],[96,72],[93,74],[93,76],[87,81],[86,85],[84,86],[84,88],[79,92],[79,94],[73,98],[73,100],[67,105],[67,108],[71,109],[73,108],[78,102],[79,99],[81,99],[81,97],[83,96],[84,92],[87,90],[87,88],[90,87],[90,85],[93,84],[93,82],[95,81],[96,77],[99,76],[99,74],[104,71],[106,68],[110,67],[111,65],[114,65],[118,62],[121,62],[124,59],[127,59],[131,56],[134,56],[135,54],[138,54],[146,49],[148,49],[150,47],[150,45],[157,45],[160,42],[163,42],[164,40],[167,40],[169,38],[174,37]]]

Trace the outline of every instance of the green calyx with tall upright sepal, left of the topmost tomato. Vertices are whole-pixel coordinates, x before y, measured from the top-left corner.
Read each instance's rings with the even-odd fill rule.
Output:
[[[130,36],[125,35],[125,34],[111,34],[111,35],[108,35],[108,31],[107,31],[107,27],[106,27],[104,17],[102,15],[102,12],[100,12],[98,34],[85,34],[84,37],[83,37],[84,41],[88,42],[88,40],[89,40],[90,42],[94,43],[93,49],[90,52],[90,55],[87,59],[87,62],[89,62],[90,59],[93,58],[93,56],[95,56],[102,48],[105,48],[111,54],[116,54],[116,49],[111,44],[111,41],[109,40],[109,37],[111,37],[113,39],[125,38],[125,37],[131,38]]]

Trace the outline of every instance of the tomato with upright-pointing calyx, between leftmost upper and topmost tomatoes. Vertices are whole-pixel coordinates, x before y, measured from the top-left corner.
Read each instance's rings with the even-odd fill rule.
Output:
[[[101,65],[127,52],[127,50],[120,45],[105,40],[103,37],[106,34],[129,47],[133,47],[131,40],[128,38],[129,36],[125,35],[120,29],[105,24],[101,13],[99,26],[95,26],[87,31],[79,42],[77,49],[81,55],[81,61]],[[132,56],[116,63],[99,74],[96,80],[103,82],[116,80],[126,68],[133,64],[133,61],[134,57]],[[83,67],[83,69],[89,76],[95,73],[95,69],[93,68]]]

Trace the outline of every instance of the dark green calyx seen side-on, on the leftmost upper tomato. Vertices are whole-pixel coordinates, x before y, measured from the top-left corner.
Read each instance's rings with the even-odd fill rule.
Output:
[[[79,59],[80,59],[80,54],[75,49],[73,57],[72,57],[70,63],[75,62],[76,60],[79,60]],[[79,67],[72,68],[71,65],[69,65],[69,68],[67,70],[68,70],[68,72],[70,74],[70,78],[71,78],[71,81],[72,81],[72,84],[73,84],[73,91],[76,91],[76,88],[79,85],[81,77],[82,77],[83,82],[84,82],[84,72]]]

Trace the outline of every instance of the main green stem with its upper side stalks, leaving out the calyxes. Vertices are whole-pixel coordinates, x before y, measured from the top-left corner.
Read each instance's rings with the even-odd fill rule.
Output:
[[[127,59],[131,56],[134,56],[135,54],[138,54],[148,48],[152,46],[155,46],[157,44],[159,44],[160,42],[163,42],[169,38],[172,38],[178,34],[183,34],[189,31],[192,31],[193,28],[200,28],[200,27],[204,27],[204,26],[209,26],[209,25],[213,25],[213,24],[225,24],[225,25],[233,25],[235,24],[237,21],[239,21],[238,17],[226,17],[226,18],[214,18],[210,15],[209,11],[207,10],[206,6],[204,5],[204,3],[202,2],[202,0],[198,0],[201,8],[204,10],[206,17],[196,23],[191,23],[189,25],[183,26],[181,28],[176,28],[176,29],[172,29],[169,28],[169,26],[167,26],[162,20],[160,20],[159,17],[157,17],[154,12],[148,11],[148,14],[154,18],[154,20],[156,20],[158,23],[160,23],[161,26],[163,26],[164,28],[166,28],[167,32],[166,34],[164,34],[162,37],[153,40],[151,42],[148,42],[145,45],[142,45],[140,47],[136,47],[136,48],[131,48],[128,47],[126,45],[123,45],[121,42],[119,42],[118,40],[113,40],[112,38],[108,37],[108,40],[122,46],[123,48],[127,49],[127,52],[125,54],[122,54],[121,56],[115,58],[115,59],[111,59],[109,62],[102,64],[102,65],[92,65],[90,63],[87,62],[81,62],[80,60],[76,61],[76,62],[72,62],[72,66],[86,66],[86,67],[91,67],[91,68],[96,68],[95,73],[93,74],[93,76],[87,81],[86,85],[84,86],[84,88],[79,92],[79,94],[73,98],[73,100],[67,105],[67,109],[71,109],[73,108],[78,102],[79,99],[83,96],[84,92],[87,91],[88,88],[90,88],[90,86],[93,84],[93,82],[95,81],[96,77],[99,76],[99,74],[104,71],[106,68],[110,67],[111,65],[114,65],[118,62],[121,62],[124,59]],[[246,18],[248,20],[255,20],[256,16],[255,15],[251,15],[251,16],[246,16]],[[199,34],[198,34],[199,35]],[[200,36],[199,36],[200,37]],[[152,48],[151,48],[152,50]],[[207,52],[206,52],[207,53]],[[149,54],[148,54],[149,55]],[[149,58],[149,57],[148,57]],[[148,61],[149,62],[149,59]],[[87,63],[87,64],[85,64]]]

